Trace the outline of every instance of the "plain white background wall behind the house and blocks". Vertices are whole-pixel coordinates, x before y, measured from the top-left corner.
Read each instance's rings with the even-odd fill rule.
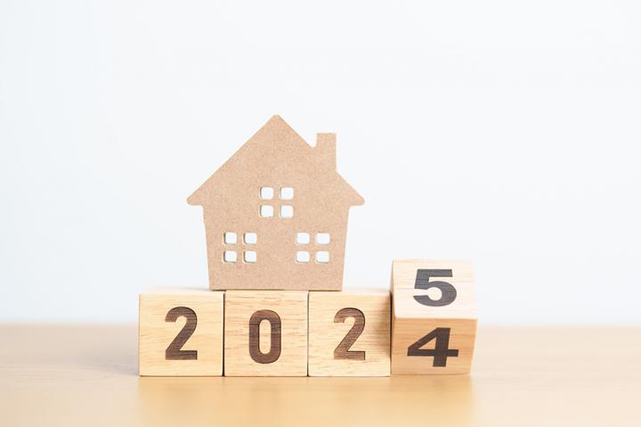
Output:
[[[185,198],[279,113],[366,200],[345,286],[473,259],[483,321],[641,321],[638,2],[303,3],[0,0],[0,320],[206,287]]]

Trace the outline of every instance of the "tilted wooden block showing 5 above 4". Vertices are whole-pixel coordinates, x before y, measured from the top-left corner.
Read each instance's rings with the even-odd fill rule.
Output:
[[[467,374],[476,336],[472,264],[392,266],[392,374]]]

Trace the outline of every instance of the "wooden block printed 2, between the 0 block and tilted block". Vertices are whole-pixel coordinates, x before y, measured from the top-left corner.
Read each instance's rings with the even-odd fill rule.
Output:
[[[310,292],[310,376],[390,374],[390,293]]]

